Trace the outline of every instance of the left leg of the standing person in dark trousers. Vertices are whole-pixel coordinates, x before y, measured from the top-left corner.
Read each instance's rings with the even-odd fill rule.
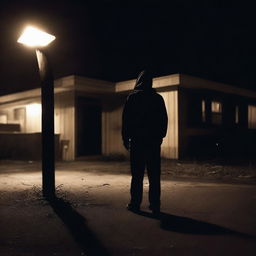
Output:
[[[143,178],[145,170],[145,154],[142,145],[131,143],[130,149],[130,163],[131,163],[131,208],[138,208],[142,202],[143,195]],[[128,205],[128,207],[129,207]]]

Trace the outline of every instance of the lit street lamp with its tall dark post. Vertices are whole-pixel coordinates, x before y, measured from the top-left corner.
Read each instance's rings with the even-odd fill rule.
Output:
[[[54,39],[55,36],[28,26],[17,41],[36,51],[41,78],[43,196],[48,199],[55,195],[54,84],[52,70],[42,47]]]

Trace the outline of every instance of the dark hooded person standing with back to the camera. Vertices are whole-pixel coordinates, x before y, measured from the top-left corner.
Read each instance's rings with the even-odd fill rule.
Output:
[[[149,208],[160,212],[161,143],[167,131],[167,113],[161,95],[152,88],[152,77],[142,71],[123,110],[122,137],[130,150],[131,201],[127,208],[139,211],[143,194],[144,170],[149,179]]]

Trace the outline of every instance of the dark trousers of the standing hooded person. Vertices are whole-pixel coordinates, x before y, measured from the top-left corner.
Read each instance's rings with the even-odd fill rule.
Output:
[[[143,196],[143,178],[145,168],[149,179],[149,203],[152,210],[160,208],[160,158],[161,143],[131,141],[130,162],[131,162],[131,202],[134,207],[140,207]]]

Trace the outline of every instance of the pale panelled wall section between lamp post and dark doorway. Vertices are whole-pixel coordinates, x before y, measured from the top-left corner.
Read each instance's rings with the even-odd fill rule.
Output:
[[[74,91],[55,94],[55,133],[60,134],[60,154],[63,160],[75,159]]]

